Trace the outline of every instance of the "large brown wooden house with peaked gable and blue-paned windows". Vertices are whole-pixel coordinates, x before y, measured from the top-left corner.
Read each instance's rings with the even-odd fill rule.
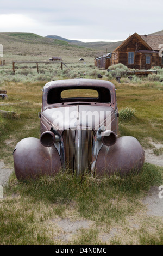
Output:
[[[128,68],[151,69],[163,67],[160,50],[163,47],[163,35],[138,35],[134,33],[118,46],[111,56],[111,65],[122,63]],[[162,52],[163,53],[163,52]]]

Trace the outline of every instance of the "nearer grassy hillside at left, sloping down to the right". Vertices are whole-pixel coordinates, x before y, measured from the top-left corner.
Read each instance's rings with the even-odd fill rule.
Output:
[[[47,38],[33,33],[0,33],[4,59],[12,60],[48,60],[52,56],[61,57],[65,62],[74,62],[79,58],[95,58],[103,54],[79,45],[54,38]],[[26,56],[26,57],[24,57]]]

